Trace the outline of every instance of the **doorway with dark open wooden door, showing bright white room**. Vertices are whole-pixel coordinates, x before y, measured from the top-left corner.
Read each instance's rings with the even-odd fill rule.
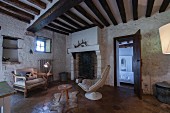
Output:
[[[114,86],[134,86],[134,92],[142,98],[141,90],[141,35],[116,37],[114,47]]]

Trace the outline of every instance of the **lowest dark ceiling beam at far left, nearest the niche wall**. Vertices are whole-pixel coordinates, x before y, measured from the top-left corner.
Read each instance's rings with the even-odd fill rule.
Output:
[[[7,11],[7,10],[4,10],[4,9],[2,9],[1,7],[0,7],[0,13],[6,14],[6,15],[11,16],[11,17],[13,17],[13,18],[16,18],[16,19],[18,19],[18,20],[20,20],[20,21],[23,21],[23,22],[26,22],[26,23],[30,23],[30,20],[29,20],[29,19],[24,18],[24,17],[21,17],[20,15],[17,15],[17,14],[15,14],[15,13],[9,12],[9,11]]]

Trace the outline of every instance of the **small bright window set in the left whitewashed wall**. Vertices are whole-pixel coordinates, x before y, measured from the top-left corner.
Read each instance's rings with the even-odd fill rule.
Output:
[[[35,51],[51,53],[51,39],[44,38],[44,37],[37,37]]]

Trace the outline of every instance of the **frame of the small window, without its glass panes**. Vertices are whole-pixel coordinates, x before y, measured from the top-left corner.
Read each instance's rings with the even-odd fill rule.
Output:
[[[46,40],[50,40],[50,52],[46,52]],[[44,42],[44,51],[37,51],[37,41],[42,41]],[[46,38],[46,37],[43,37],[43,36],[37,36],[36,37],[36,41],[35,41],[35,52],[39,52],[39,53],[52,53],[51,52],[51,49],[52,48],[52,39],[50,38]]]

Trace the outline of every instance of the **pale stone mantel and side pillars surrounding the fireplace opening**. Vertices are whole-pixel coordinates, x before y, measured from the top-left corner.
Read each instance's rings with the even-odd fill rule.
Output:
[[[97,56],[97,66],[96,66],[96,77],[100,77],[101,76],[101,54],[100,54],[100,48],[99,45],[92,45],[92,46],[85,46],[85,47],[78,47],[78,48],[71,48],[68,49],[68,53],[73,54],[73,53],[77,53],[77,52],[87,52],[87,51],[94,51],[96,53]],[[73,55],[71,55],[71,80],[75,80],[76,79],[76,75],[75,75],[75,65],[74,65],[74,58]]]

